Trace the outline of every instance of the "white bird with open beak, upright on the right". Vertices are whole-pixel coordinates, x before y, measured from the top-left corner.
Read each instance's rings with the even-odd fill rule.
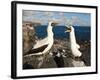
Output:
[[[74,27],[73,26],[68,26],[66,32],[69,32],[70,46],[71,46],[72,54],[75,57],[80,57],[82,55],[82,53],[79,51],[79,48],[80,48],[79,44],[76,43]]]

